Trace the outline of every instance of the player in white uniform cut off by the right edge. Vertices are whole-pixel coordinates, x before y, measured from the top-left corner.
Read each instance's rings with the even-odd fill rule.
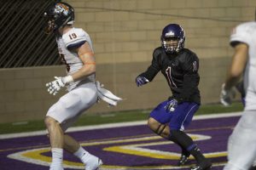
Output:
[[[249,169],[256,158],[256,22],[236,26],[230,37],[235,49],[220,101],[230,105],[232,88],[243,76],[245,108],[228,141],[225,170]]]

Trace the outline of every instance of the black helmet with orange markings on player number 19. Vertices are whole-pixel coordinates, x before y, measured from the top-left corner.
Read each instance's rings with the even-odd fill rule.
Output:
[[[49,5],[44,11],[45,33],[58,31],[59,28],[66,25],[73,25],[74,10],[68,3],[54,3]]]

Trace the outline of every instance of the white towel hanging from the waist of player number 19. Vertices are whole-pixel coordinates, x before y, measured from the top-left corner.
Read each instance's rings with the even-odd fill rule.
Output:
[[[117,105],[120,100],[118,96],[112,94],[109,90],[102,88],[103,85],[100,82],[96,82],[97,94],[100,99],[107,102],[109,105]]]

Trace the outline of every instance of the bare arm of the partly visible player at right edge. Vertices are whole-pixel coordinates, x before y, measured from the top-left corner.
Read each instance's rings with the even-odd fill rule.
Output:
[[[225,80],[224,90],[229,91],[240,81],[247,64],[248,46],[246,43],[236,43],[235,54],[232,57],[230,69]]]

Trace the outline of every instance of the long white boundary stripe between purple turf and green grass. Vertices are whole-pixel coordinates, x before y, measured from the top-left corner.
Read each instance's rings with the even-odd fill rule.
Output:
[[[230,113],[218,113],[218,114],[194,116],[193,120],[203,120],[203,119],[231,117],[231,116],[241,116],[241,111],[239,111],[239,112],[230,112]],[[107,123],[107,124],[102,124],[102,125],[70,127],[70,128],[67,129],[67,132],[79,132],[79,131],[85,131],[85,130],[113,128],[113,127],[131,127],[131,126],[146,125],[146,124],[147,124],[147,121],[115,122],[115,123]],[[1,134],[0,139],[12,139],[12,138],[20,138],[20,137],[39,136],[39,135],[45,135],[46,133],[47,133],[46,130],[41,130],[41,131],[35,131],[35,132],[29,132],[29,133]]]

